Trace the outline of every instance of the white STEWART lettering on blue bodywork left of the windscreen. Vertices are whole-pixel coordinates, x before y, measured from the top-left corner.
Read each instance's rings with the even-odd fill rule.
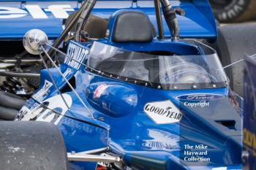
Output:
[[[80,63],[83,63],[83,60],[86,58],[86,55],[88,53],[89,50],[86,50],[83,46],[76,45],[75,43],[70,42],[69,47],[67,48],[67,55],[70,58],[66,57],[64,63],[78,70],[81,65]],[[77,61],[80,63],[78,63]]]

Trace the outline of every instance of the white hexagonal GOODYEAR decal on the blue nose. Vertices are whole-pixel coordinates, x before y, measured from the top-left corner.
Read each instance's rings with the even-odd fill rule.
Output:
[[[182,118],[182,113],[169,100],[147,103],[144,112],[157,124],[176,123]]]

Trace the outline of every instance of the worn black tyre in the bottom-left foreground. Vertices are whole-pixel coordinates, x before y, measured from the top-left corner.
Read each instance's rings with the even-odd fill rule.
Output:
[[[51,123],[2,121],[0,140],[1,169],[67,169],[64,141]]]

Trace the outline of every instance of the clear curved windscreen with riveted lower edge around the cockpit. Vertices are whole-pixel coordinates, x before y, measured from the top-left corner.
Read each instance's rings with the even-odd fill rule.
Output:
[[[94,42],[87,64],[95,69],[92,72],[152,88],[225,87],[227,77],[217,54],[204,48],[208,55],[152,55]]]

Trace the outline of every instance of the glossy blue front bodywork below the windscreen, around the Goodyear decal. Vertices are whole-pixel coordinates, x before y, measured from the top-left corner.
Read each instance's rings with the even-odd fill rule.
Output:
[[[229,88],[157,90],[102,77],[86,71],[83,66],[76,71],[61,64],[60,69],[63,73],[67,69],[72,70],[67,79],[75,77],[75,90],[95,118],[91,118],[72,92],[65,93],[72,97],[72,106],[64,117],[59,115],[58,110],[44,115],[45,121],[53,114],[56,114],[56,118],[61,117],[58,127],[67,152],[109,147],[111,152],[121,156],[127,165],[135,169],[150,169],[152,166],[154,169],[241,169],[241,112],[233,104]],[[64,80],[56,69],[51,72],[59,88],[63,89],[66,84]],[[41,77],[41,87],[45,80],[51,82],[46,70],[42,70]],[[108,89],[95,100],[94,93],[100,85],[106,85]],[[209,101],[210,107],[186,107],[184,103],[189,101],[186,96],[195,93],[221,97],[203,100]],[[52,87],[44,100],[57,94]],[[165,100],[172,101],[183,112],[184,117],[179,123],[159,125],[143,112],[146,103]],[[42,101],[31,98],[25,107],[33,110],[39,107],[39,103]],[[23,110],[18,120],[22,120]],[[37,115],[35,119],[39,117]],[[51,121],[54,123],[54,120]],[[225,121],[233,123],[219,123]],[[183,161],[186,144],[208,146],[206,157],[211,158],[211,161],[205,165],[192,163],[189,166]],[[72,162],[70,166],[74,169],[95,169],[97,163]]]

